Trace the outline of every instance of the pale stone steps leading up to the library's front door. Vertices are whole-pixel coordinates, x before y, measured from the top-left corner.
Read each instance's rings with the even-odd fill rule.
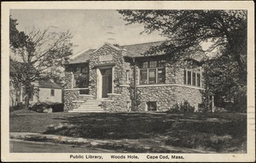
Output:
[[[101,107],[102,101],[97,99],[88,99],[87,101],[81,103],[78,108],[69,110],[68,112],[79,112],[79,113],[95,113],[104,112]]]

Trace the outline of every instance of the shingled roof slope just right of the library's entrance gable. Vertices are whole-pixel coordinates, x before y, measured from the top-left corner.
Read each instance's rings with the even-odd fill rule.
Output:
[[[120,47],[127,50],[126,56],[133,58],[133,57],[142,57],[143,56],[142,54],[147,52],[150,47],[159,46],[161,43],[163,43],[163,41],[124,45]]]

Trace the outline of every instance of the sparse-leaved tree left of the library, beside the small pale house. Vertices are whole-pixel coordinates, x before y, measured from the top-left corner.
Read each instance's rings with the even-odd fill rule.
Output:
[[[62,63],[72,54],[72,35],[69,31],[57,32],[54,28],[18,31],[17,20],[9,19],[10,77],[25,90],[25,105],[35,93],[32,82],[49,80],[61,73]]]

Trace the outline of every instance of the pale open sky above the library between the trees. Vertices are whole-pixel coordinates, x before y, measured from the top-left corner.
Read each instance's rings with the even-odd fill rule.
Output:
[[[71,31],[73,53],[86,48],[99,48],[104,42],[119,45],[166,40],[159,32],[143,33],[143,25],[125,25],[121,14],[111,9],[12,9],[11,17],[18,20],[17,29],[46,29],[54,26],[58,31]]]

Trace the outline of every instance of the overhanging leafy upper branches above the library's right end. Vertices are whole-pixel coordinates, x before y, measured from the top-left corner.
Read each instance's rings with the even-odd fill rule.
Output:
[[[218,58],[236,61],[241,73],[247,69],[246,10],[119,10],[127,25],[139,23],[144,31],[160,31],[168,41],[152,48],[176,53],[201,42],[212,42],[208,52],[218,48]],[[179,53],[180,54],[180,53]],[[216,56],[209,59],[216,59]],[[204,64],[206,61],[202,61]]]

